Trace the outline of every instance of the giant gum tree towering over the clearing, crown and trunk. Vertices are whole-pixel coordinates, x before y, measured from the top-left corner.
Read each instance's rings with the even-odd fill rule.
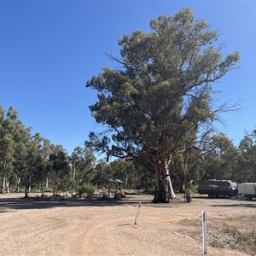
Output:
[[[87,82],[98,91],[90,111],[107,129],[90,132],[85,144],[119,158],[148,154],[154,202],[170,202],[172,156],[199,145],[224,110],[212,107],[212,84],[236,67],[239,54],[223,58],[218,33],[190,9],[160,15],[150,27],[124,35],[120,56],[109,54],[119,68],[103,68]]]

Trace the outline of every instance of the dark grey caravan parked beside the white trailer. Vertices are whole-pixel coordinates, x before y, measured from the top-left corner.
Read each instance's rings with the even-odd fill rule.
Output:
[[[209,179],[198,184],[198,193],[207,194],[210,198],[219,196],[235,196],[238,192],[238,183],[230,180]]]

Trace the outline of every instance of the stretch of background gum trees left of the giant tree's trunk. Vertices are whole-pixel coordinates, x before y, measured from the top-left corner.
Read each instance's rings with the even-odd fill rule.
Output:
[[[138,168],[140,169],[140,168]],[[142,170],[132,161],[98,160],[91,148],[74,148],[72,154],[55,145],[19,119],[15,108],[0,106],[0,193],[61,190],[75,192],[97,177],[115,177],[125,189],[142,186]]]

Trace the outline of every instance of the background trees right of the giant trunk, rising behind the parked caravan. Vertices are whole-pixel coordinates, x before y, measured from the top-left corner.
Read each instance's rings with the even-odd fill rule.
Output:
[[[179,192],[206,179],[230,179],[239,183],[256,182],[255,132],[247,134],[238,146],[223,133],[209,138],[204,150],[184,151],[171,163],[172,180]]]

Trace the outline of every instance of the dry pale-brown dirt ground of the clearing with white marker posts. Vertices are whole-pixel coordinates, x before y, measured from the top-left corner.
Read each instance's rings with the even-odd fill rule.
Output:
[[[179,195],[170,204],[152,204],[152,195],[22,197],[0,195],[0,255],[202,255],[203,210],[207,255],[256,255],[255,241],[247,242],[250,230],[255,236],[256,201],[192,196],[191,203],[184,203]]]

